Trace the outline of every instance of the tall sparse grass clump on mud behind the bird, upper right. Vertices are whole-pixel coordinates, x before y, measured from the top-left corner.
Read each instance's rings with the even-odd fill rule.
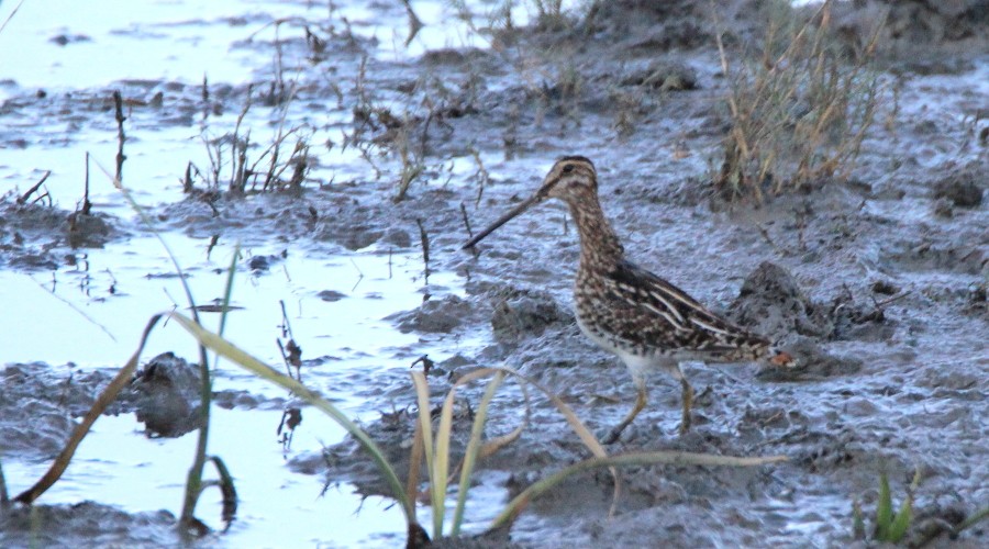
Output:
[[[831,0],[807,21],[789,2],[773,0],[762,55],[730,61],[731,130],[715,187],[732,199],[762,202],[837,177],[847,178],[884,86],[870,69],[877,24],[856,51],[837,40]]]

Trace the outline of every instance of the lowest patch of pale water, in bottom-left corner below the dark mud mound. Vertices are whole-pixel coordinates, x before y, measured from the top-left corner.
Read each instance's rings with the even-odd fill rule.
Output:
[[[276,436],[280,418],[277,410],[213,410],[210,453],[222,457],[233,474],[240,506],[230,530],[212,542],[229,547],[400,545],[405,522],[392,501],[364,498],[346,483],[320,495],[320,477],[286,467],[287,459],[319,452],[324,444],[342,438],[343,429],[316,413],[305,413],[291,449],[282,450]],[[148,439],[132,414],[101,417],[65,477],[42,501],[71,504],[95,500],[135,513],[178,509],[195,449],[195,435]],[[10,489],[16,492],[27,488],[25,480],[40,478],[48,462],[5,460],[3,466]],[[210,464],[205,471],[207,479],[215,478]],[[210,489],[197,506],[197,516],[215,529],[223,528],[220,500],[220,492]]]

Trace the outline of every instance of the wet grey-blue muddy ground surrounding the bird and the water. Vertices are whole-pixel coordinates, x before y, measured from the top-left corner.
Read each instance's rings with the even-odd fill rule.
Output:
[[[362,34],[359,22],[352,30],[338,14],[310,13],[304,23],[285,24],[277,40],[238,45],[265,63],[280,52],[286,66],[298,68],[287,88],[265,65],[253,86],[214,81],[207,94],[201,83],[169,80],[9,92],[0,116],[16,123],[0,130],[0,164],[19,166],[9,160],[18,152],[70,148],[76,128],[104,134],[103,148],[112,152],[111,91],[120,89],[129,101],[124,183],[138,200],[144,192],[155,201],[148,212],[166,234],[199,239],[202,247],[215,235],[227,246],[240,240],[256,247],[238,262],[247,280],[264,285],[280,276],[279,265],[290,278],[327,254],[351,257],[362,250],[381,265],[387,259],[389,271],[392,256],[412,258],[404,272],[415,271],[424,260],[424,232],[431,280],[411,274],[408,293],[414,301],[370,313],[396,334],[373,337],[393,337],[391,343],[369,347],[359,335],[327,340],[320,333],[319,326],[332,332],[362,314],[329,307],[362,293],[349,282],[307,282],[305,294],[319,294],[329,305],[322,315],[300,314],[320,316],[310,318],[309,337],[299,338],[313,371],[305,381],[346,402],[395,462],[404,463],[414,417],[405,412],[415,403],[407,371],[423,355],[436,362],[431,383],[437,404],[451,379],[505,365],[556,391],[597,433],[605,433],[632,405],[634,388],[624,367],[586,340],[574,320],[570,291],[579,243],[562,205],[543,205],[514,220],[476,255],[459,249],[468,235],[465,216],[477,231],[527,197],[556,157],[582,154],[598,167],[603,208],[633,260],[740,324],[785,341],[801,359],[786,372],[756,365],[686,365],[698,397],[694,426],[682,436],[677,434],[679,388],[657,374],[649,382],[649,405],[608,451],[779,455],[789,461],[751,469],[626,468],[614,516],[609,516],[611,478],[578,475],[533,502],[509,540],[525,547],[846,545],[853,540],[853,502],[871,516],[881,471],[889,473],[898,501],[921,471],[914,540],[984,508],[989,502],[985,21],[920,2],[918,12],[903,7],[893,12],[896,31],[884,35],[879,59],[888,87],[851,178],[819,181],[758,205],[726,201],[711,190],[730,119],[709,14],[677,2],[618,4],[597,10],[589,27],[587,20],[543,20],[538,26],[479,31],[481,45],[490,47],[434,47],[401,58],[381,55],[382,38]],[[760,29],[759,11],[740,5],[734,15],[729,8],[721,14],[732,21],[725,34],[730,49]],[[403,9],[375,9],[404,21]],[[844,29],[853,32],[864,16],[846,15]],[[968,32],[959,30],[959,21],[968,22]],[[657,80],[680,83],[657,86]],[[293,98],[281,111],[273,103],[285,89]],[[211,184],[209,158],[200,150],[201,171],[189,176],[192,190],[184,194],[181,181],[193,160],[181,158],[186,149],[171,148],[171,137],[155,143],[160,150],[141,148],[142,139],[156,133],[185,135],[203,124],[212,124],[213,137],[232,132],[248,94],[253,107],[244,125],[256,128],[252,135],[260,143],[254,154],[266,146],[260,135],[282,123],[282,112],[285,124],[301,127],[300,135],[310,139],[305,154],[271,181],[276,192],[251,192],[257,190],[251,186],[247,197],[226,192],[229,165],[216,178],[222,183]],[[158,153],[173,165],[154,168]],[[112,170],[111,154],[98,159]],[[2,203],[0,266],[12,276],[47,280],[46,273],[60,272],[88,249],[112,251],[147,236],[119,199],[97,203],[91,215],[74,216],[77,197],[48,205],[34,200],[42,188],[19,201],[37,178],[21,172],[16,179],[14,169],[7,173],[16,190]],[[403,176],[413,173],[396,201]],[[162,181],[171,194],[158,200],[143,187],[147,181]],[[288,258],[279,249],[288,250]],[[213,267],[222,269],[224,261]],[[100,288],[110,287],[110,278],[93,277],[107,281]],[[134,329],[157,311],[133,318]],[[29,312],[8,307],[7,314]],[[277,318],[267,321],[274,326]],[[268,332],[266,340],[275,329]],[[231,339],[238,343],[236,335]],[[8,340],[18,347],[14,336]],[[136,339],[125,340],[118,360],[134,346]],[[197,356],[167,346],[160,350],[190,360]],[[280,360],[268,348],[262,352]],[[74,418],[121,363],[63,367],[73,359],[59,362],[60,355],[41,347],[20,349],[19,356],[29,358],[7,365],[0,377],[5,470],[56,453]],[[287,401],[236,374],[221,376],[218,394],[218,404],[234,413],[277,411]],[[465,414],[479,395],[480,389],[464,392]],[[113,413],[134,412],[141,397],[138,384]],[[188,412],[181,404],[179,416]],[[523,405],[522,393],[507,383],[486,435],[513,429]],[[531,406],[522,438],[488,458],[478,473],[468,507],[470,533],[484,530],[508,496],[589,457],[552,404],[533,397]],[[290,474],[311,483],[313,497],[324,483],[353,485],[362,495],[384,493],[351,440],[338,434],[323,440],[325,449],[298,448],[285,458]],[[7,483],[23,489],[31,480],[8,473]],[[170,526],[177,509],[168,502],[124,512],[98,490],[85,500],[90,502],[43,498],[35,512],[42,518],[21,508],[2,512],[0,541],[16,546],[38,539],[37,520],[46,525],[40,539],[52,545],[175,540]],[[162,507],[170,511],[157,511]],[[364,511],[341,513],[323,518],[346,522]],[[93,524],[102,537],[93,537]],[[251,519],[242,519],[240,528],[238,542],[251,544]],[[348,544],[336,535],[340,526],[300,528],[310,541]],[[360,542],[400,545],[400,533]],[[942,536],[935,542],[980,547],[987,537],[982,523],[957,540]]]

